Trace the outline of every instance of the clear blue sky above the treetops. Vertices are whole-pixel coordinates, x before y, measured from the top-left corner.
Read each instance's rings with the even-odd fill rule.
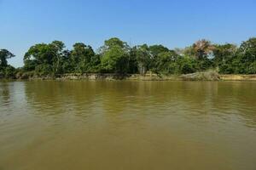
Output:
[[[95,49],[109,37],[168,48],[201,38],[239,44],[256,37],[256,1],[0,0],[0,21],[0,48],[16,55],[9,64],[21,66],[29,47],[53,40]]]

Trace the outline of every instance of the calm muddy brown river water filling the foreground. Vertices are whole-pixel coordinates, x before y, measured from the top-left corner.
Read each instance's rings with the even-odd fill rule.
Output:
[[[2,169],[256,169],[256,82],[0,82]]]

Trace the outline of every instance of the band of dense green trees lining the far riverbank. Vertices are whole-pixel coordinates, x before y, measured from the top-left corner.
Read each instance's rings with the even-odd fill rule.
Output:
[[[130,47],[113,37],[95,52],[90,45],[75,43],[72,50],[54,41],[28,49],[24,66],[15,69],[7,59],[14,57],[0,50],[0,77],[56,76],[65,73],[188,74],[213,69],[223,74],[256,74],[256,38],[234,44],[212,44],[200,40],[187,48],[169,49],[147,44]]]

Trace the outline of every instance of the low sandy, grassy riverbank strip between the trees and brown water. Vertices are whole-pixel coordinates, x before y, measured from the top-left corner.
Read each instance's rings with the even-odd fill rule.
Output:
[[[3,79],[3,77],[0,79]],[[256,81],[256,75],[222,75],[216,71],[196,72],[186,75],[158,75],[148,73],[140,74],[100,74],[100,73],[84,73],[84,74],[63,74],[55,77],[50,76],[17,76],[9,78],[11,80],[134,80],[134,81]]]

